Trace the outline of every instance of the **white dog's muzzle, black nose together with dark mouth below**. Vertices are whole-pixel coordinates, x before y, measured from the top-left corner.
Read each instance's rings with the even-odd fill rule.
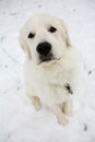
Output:
[[[51,44],[48,42],[44,42],[37,45],[36,48],[40,62],[43,61],[50,61],[54,59],[52,52],[51,52]]]

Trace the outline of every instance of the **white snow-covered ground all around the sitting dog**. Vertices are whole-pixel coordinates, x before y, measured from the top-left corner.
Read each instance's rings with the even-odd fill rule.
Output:
[[[64,127],[47,108],[36,113],[24,92],[19,31],[44,12],[64,20],[87,74],[83,106]],[[0,0],[0,142],[95,142],[95,0]]]

